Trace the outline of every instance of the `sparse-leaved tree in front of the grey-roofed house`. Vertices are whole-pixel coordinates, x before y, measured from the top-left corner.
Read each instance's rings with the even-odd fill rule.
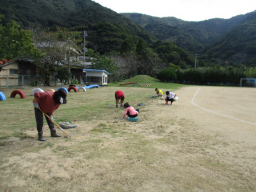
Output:
[[[51,76],[60,70],[60,63],[68,59],[68,72],[70,73],[70,56],[76,55],[79,50],[76,46],[77,33],[76,31],[67,31],[63,28],[58,28],[58,31],[33,31],[33,41],[40,51],[44,52],[45,56],[36,60],[36,66],[39,69],[40,76],[45,81],[45,85],[49,86]],[[63,72],[67,72],[64,70]],[[68,74],[65,74],[68,76]],[[70,79],[68,79],[70,83]]]

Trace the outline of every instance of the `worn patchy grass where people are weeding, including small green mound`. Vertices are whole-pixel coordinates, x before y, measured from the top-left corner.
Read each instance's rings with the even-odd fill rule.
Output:
[[[197,113],[188,106],[194,88],[176,90],[186,85],[161,83],[148,76],[128,80],[154,86],[124,87],[113,83],[68,93],[67,104],[54,112],[54,120],[77,127],[65,130],[69,138],[64,138],[60,130],[61,138],[51,138],[44,120],[46,142],[37,140],[33,97],[29,96],[33,88],[22,88],[26,99],[6,97],[1,101],[0,188],[5,191],[255,191],[255,143],[250,137],[246,137],[250,143],[240,140],[244,132],[248,133],[248,127],[236,137],[237,141],[232,140],[232,131],[228,134],[213,127],[220,125],[213,122],[213,116],[208,119],[202,113],[198,113],[202,117],[193,114],[207,118],[205,122],[209,124],[187,117]],[[173,106],[164,106],[163,100],[150,97],[156,94],[156,87],[175,90],[180,100]],[[140,108],[138,122],[121,120],[125,109],[106,105],[115,104],[116,90],[124,92],[125,102]],[[1,90],[4,95],[12,91]],[[137,106],[140,102],[146,106]]]

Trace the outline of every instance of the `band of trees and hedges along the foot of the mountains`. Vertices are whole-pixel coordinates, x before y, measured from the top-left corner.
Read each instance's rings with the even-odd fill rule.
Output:
[[[61,65],[61,61],[83,52],[83,36],[80,31],[66,28],[56,28],[55,31],[21,29],[14,21],[3,25],[1,20],[0,31],[0,60],[33,58],[47,85],[51,82],[52,74],[56,74],[61,81],[69,80],[70,65]],[[42,46],[42,42],[47,42],[47,45]],[[77,52],[70,52],[70,47],[76,47]],[[118,51],[101,55],[93,47],[87,47],[86,56],[95,58],[92,68],[108,71],[111,81],[122,81],[143,74],[157,77],[161,81],[237,85],[241,78],[256,77],[256,69],[253,67],[230,65],[226,68],[219,65],[218,60],[200,61],[200,67],[195,69],[194,56],[171,42],[148,44],[143,38],[125,38]]]

